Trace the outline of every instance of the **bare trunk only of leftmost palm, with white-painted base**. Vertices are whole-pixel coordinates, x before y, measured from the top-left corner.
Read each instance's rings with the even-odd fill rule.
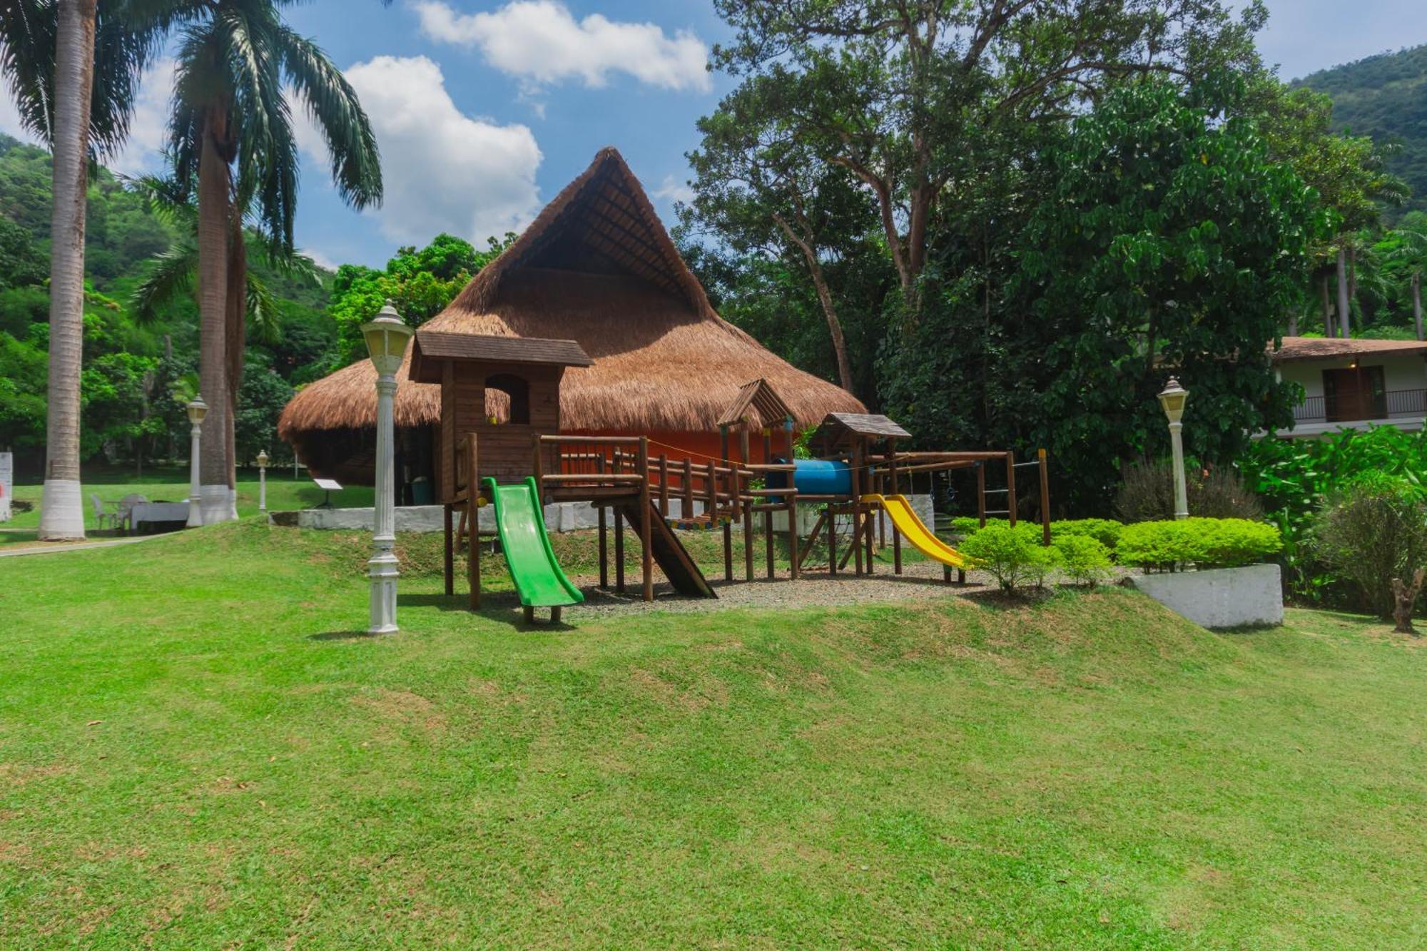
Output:
[[[84,537],[80,368],[84,358],[84,200],[98,0],[60,0],[50,208],[50,377],[40,538]]]

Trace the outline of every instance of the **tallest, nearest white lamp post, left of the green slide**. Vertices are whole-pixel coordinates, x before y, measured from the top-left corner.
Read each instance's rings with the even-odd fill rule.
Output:
[[[397,396],[397,371],[411,341],[411,327],[402,323],[397,308],[387,301],[377,318],[361,326],[367,353],[377,368],[377,517],[372,531],[372,555],[367,561],[371,578],[371,624],[368,634],[397,633],[397,555],[395,534],[395,473],[392,463],[391,406]]]

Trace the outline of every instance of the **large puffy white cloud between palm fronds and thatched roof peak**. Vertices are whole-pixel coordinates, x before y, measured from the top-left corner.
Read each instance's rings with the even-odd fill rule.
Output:
[[[498,126],[461,113],[441,67],[424,56],[378,56],[347,70],[381,149],[385,197],[371,211],[388,238],[425,243],[450,231],[484,246],[519,231],[538,210],[539,146],[527,126]],[[327,147],[311,121],[297,123],[300,147],[323,163]]]

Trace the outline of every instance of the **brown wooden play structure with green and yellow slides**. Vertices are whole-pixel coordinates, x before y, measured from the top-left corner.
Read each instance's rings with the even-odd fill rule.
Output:
[[[719,458],[679,451],[651,453],[662,446],[648,436],[581,436],[561,433],[559,390],[569,367],[589,366],[571,340],[539,340],[418,330],[411,378],[441,387],[440,484],[445,487],[445,591],[454,594],[455,553],[468,545],[469,607],[481,605],[481,565],[475,553],[484,535],[498,535],[528,620],[535,607],[561,608],[584,600],[565,577],[545,530],[545,505],[586,503],[599,538],[599,587],[626,593],[625,538],[641,547],[641,595],[654,600],[654,565],[688,597],[716,597],[675,527],[722,534],[723,580],[733,581],[735,531],[742,528],[742,574],[753,580],[755,520],[762,518],[765,571],[776,577],[776,538],[785,535],[789,577],[805,570],[819,538],[826,538],[826,570],[836,575],[852,561],[870,574],[875,548],[890,544],[893,571],[902,573],[902,544],[910,543],[953,568],[965,581],[966,564],[936,537],[900,494],[916,473],[975,467],[977,510],[1016,520],[1016,470],[1040,468],[1040,513],[1049,543],[1049,493],[1045,451],[1035,463],[1017,464],[1009,451],[906,453],[899,440],[910,434],[885,416],[831,413],[809,446],[819,458],[793,458],[793,414],[768,380],[742,386],[719,417]],[[492,391],[505,401],[504,418],[492,411]],[[752,464],[753,440],[762,457]],[[736,448],[736,458],[735,458]],[[1005,464],[1005,488],[987,488],[990,466]],[[989,508],[987,497],[1005,494],[1005,508]],[[816,507],[818,520],[799,533],[799,508]],[[482,508],[491,510],[485,527]],[[676,511],[675,511],[676,510]],[[785,525],[778,525],[778,518]],[[612,534],[612,538],[611,538]],[[805,535],[805,538],[801,538]],[[612,553],[611,553],[612,547]],[[611,557],[612,555],[612,557]],[[611,571],[611,560],[614,561]]]

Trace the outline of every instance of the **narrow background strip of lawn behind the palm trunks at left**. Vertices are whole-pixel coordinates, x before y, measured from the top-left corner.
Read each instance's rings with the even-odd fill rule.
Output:
[[[91,494],[98,495],[106,503],[118,501],[131,493],[144,495],[150,501],[183,501],[188,497],[188,470],[161,468],[157,473],[146,473],[144,476],[128,476],[113,471],[86,473],[83,490],[84,528],[86,531],[96,531],[94,507],[90,503]],[[3,530],[0,535],[16,535],[26,531],[31,534],[24,535],[24,540],[34,540],[33,531],[40,525],[40,498],[43,491],[44,487],[40,484],[14,487],[16,500],[34,503],[34,508],[26,513],[16,513],[14,518],[0,524],[0,530]],[[332,504],[340,508],[347,505],[370,505],[371,493],[370,485],[342,488],[340,493],[332,493]],[[281,511],[288,508],[311,508],[321,504],[325,493],[314,485],[313,480],[305,474],[294,480],[291,468],[270,468],[267,495],[268,511]],[[255,515],[257,511],[258,474],[255,470],[240,471],[238,514]],[[108,534],[107,528],[106,534]],[[13,541],[14,538],[11,538]],[[6,540],[0,537],[0,545],[4,544]]]

